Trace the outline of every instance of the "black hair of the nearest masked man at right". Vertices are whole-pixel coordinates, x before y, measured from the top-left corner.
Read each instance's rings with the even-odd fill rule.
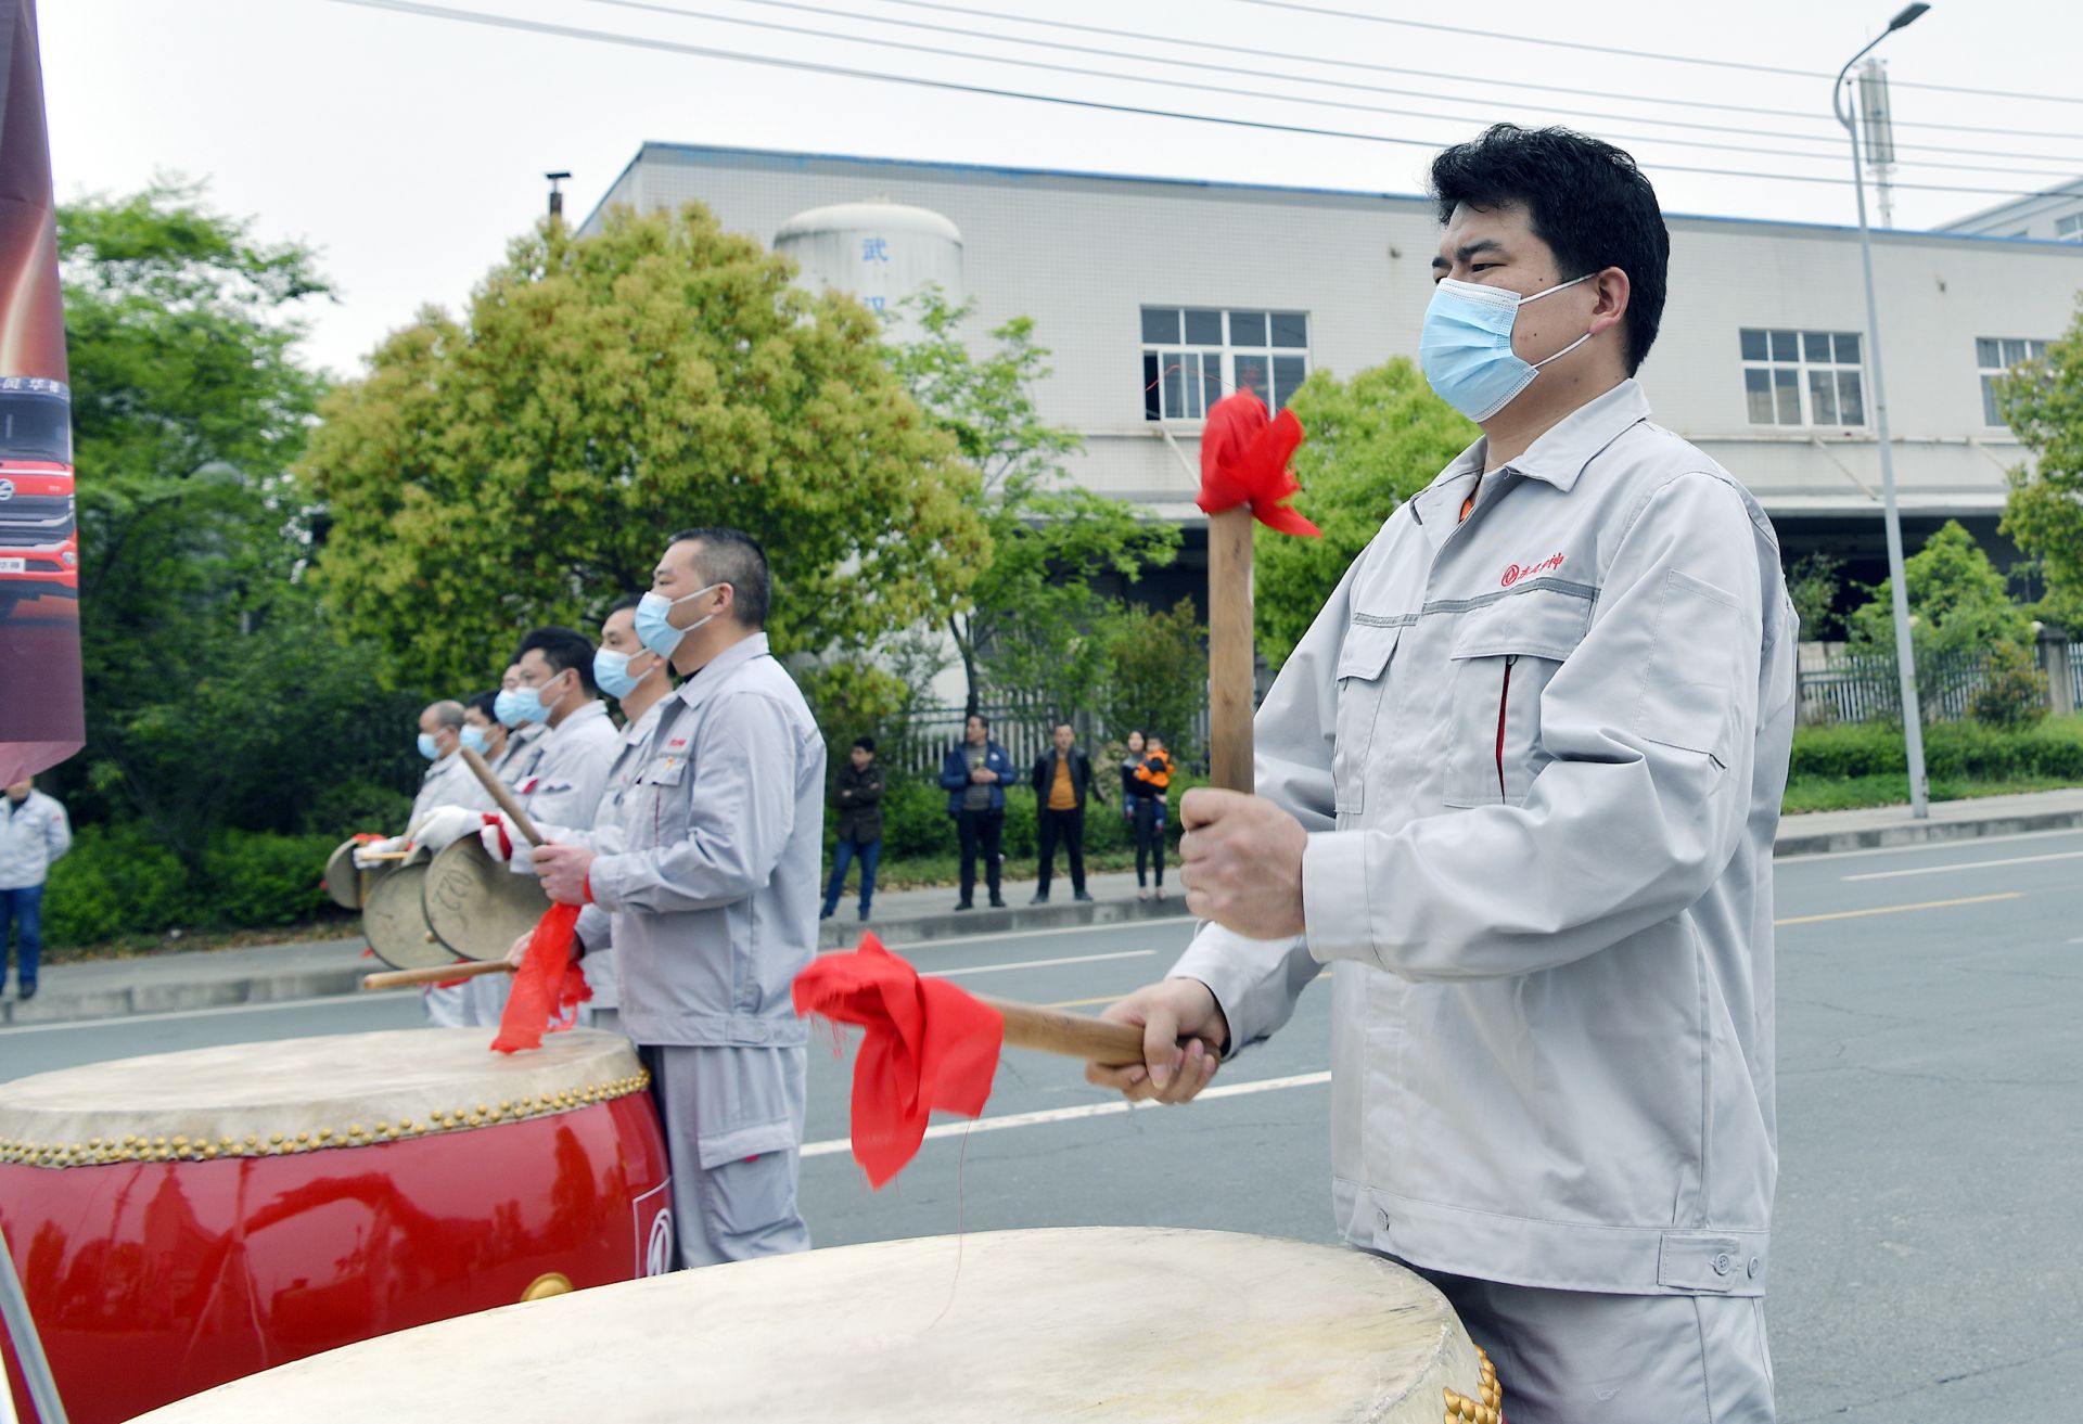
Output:
[[[1498,123],[1433,158],[1431,189],[1441,223],[1460,204],[1523,206],[1562,281],[1627,273],[1627,373],[1641,368],[1664,321],[1671,233],[1633,156],[1571,129]]]

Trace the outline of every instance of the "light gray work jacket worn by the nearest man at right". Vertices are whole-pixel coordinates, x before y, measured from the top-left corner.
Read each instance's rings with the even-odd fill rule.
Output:
[[[1204,926],[1231,1045],[1331,964],[1354,1245],[1571,1291],[1762,1295],[1773,833],[1796,618],[1750,493],[1625,381],[1396,510],[1256,718],[1306,933]]]

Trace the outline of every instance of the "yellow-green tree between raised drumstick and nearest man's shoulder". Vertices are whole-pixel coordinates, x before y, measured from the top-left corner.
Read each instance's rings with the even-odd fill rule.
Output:
[[[1481,433],[1433,396],[1404,356],[1350,381],[1312,371],[1287,408],[1308,435],[1294,460],[1302,483],[1294,508],[1323,537],[1296,539],[1264,527],[1254,533],[1258,654],[1275,668],[1396,506],[1437,479]]]

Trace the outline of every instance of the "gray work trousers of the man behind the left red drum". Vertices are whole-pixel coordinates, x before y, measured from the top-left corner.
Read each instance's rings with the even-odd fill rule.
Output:
[[[808,1251],[796,1207],[810,1053],[637,1045],[673,1168],[681,1270]]]

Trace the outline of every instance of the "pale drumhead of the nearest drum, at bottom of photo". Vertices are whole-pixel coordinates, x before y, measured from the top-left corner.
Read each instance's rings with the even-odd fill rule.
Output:
[[[614,1424],[1494,1424],[1496,1378],[1437,1291],[1371,1255],[1214,1230],[1006,1230],[494,1309],[150,1418],[381,1420],[400,1405]]]

